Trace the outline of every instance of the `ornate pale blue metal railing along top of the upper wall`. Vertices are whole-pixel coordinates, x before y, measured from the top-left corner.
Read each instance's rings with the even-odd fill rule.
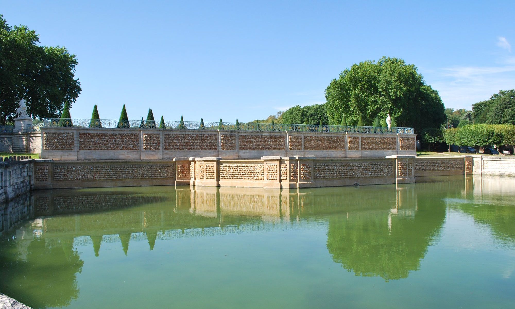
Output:
[[[291,125],[263,123],[227,123],[197,121],[145,121],[115,119],[60,119],[44,118],[43,127],[79,127],[79,128],[160,128],[170,130],[238,130],[238,131],[277,131],[277,132],[349,132],[349,133],[414,133],[413,128],[356,127],[328,125]]]

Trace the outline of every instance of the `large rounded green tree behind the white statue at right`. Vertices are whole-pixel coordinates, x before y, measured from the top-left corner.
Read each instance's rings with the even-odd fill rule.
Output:
[[[349,125],[362,116],[364,125],[389,113],[401,127],[438,128],[445,122],[444,106],[438,92],[424,84],[413,64],[383,57],[364,61],[341,72],[325,90],[329,122],[339,124],[345,114]]]

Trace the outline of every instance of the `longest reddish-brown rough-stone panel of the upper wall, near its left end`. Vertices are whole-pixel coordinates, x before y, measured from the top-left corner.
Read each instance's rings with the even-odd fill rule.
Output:
[[[139,149],[139,133],[79,133],[79,150]]]

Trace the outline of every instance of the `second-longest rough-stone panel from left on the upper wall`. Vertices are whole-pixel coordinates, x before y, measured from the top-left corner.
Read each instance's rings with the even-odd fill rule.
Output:
[[[217,150],[216,134],[164,134],[164,150]]]

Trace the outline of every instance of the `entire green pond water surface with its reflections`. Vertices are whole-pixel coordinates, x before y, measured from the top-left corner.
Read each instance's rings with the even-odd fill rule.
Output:
[[[514,198],[495,177],[38,191],[9,206],[29,219],[4,222],[0,292],[34,308],[513,308]]]

